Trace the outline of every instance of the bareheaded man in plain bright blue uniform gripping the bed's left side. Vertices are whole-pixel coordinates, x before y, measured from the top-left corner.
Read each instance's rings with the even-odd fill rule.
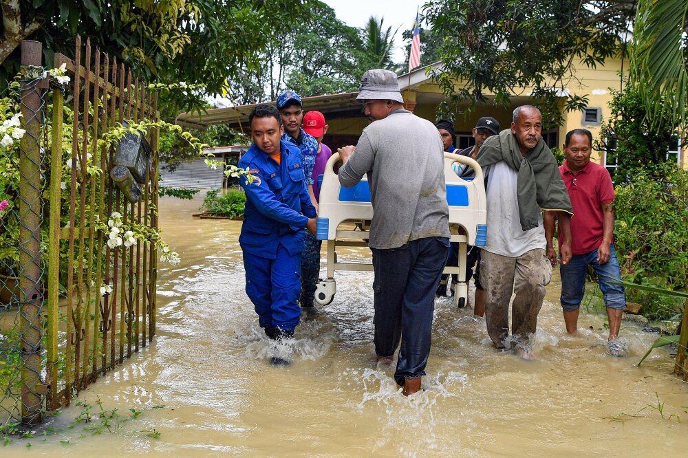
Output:
[[[244,252],[246,294],[272,339],[289,338],[299,324],[303,230],[315,233],[316,211],[306,187],[301,153],[281,141],[279,111],[258,105],[248,116],[253,144],[239,160],[246,191],[239,244]],[[274,359],[274,358],[273,358]]]

